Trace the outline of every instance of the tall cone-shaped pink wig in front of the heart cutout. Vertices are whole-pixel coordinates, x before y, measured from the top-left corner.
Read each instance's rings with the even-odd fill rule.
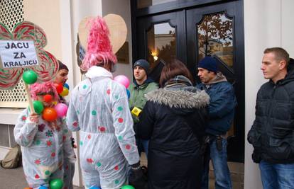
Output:
[[[87,71],[95,65],[104,65],[108,62],[116,63],[117,59],[112,52],[109,40],[109,29],[104,19],[93,18],[88,22],[91,25],[87,39],[87,52],[82,61],[82,71]]]

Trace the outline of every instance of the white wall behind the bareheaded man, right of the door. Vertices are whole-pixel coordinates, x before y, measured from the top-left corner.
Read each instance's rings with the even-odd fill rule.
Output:
[[[293,0],[244,0],[246,135],[255,118],[256,93],[266,82],[260,69],[263,50],[283,47],[294,57],[293,7]],[[244,188],[262,188],[258,164],[251,159],[252,151],[252,146],[245,142]]]

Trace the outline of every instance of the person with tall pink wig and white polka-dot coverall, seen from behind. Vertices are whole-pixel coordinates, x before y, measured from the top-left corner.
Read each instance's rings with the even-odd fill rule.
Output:
[[[80,130],[80,164],[87,188],[145,185],[126,88],[112,80],[117,62],[103,18],[93,18],[81,69],[87,71],[70,96],[67,126]]]

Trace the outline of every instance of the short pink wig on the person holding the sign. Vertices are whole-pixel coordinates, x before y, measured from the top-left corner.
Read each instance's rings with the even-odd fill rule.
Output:
[[[45,94],[45,93],[53,93],[53,98],[58,99],[58,93],[56,91],[56,87],[54,86],[52,81],[47,81],[45,83],[35,83],[30,86],[31,97],[34,101],[37,100],[38,94]]]

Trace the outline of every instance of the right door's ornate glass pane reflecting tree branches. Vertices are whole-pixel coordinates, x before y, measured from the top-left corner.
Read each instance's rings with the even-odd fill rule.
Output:
[[[232,19],[224,13],[204,16],[197,25],[198,62],[207,55],[222,59],[224,64],[233,67],[233,28]]]

